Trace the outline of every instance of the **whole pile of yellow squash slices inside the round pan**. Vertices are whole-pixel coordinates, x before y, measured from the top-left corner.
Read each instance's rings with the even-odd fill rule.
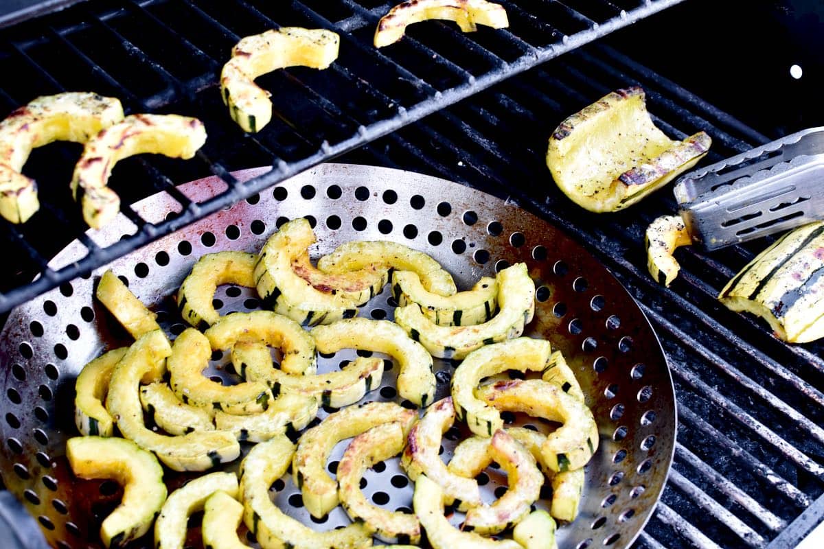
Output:
[[[184,547],[188,518],[200,510],[204,546],[213,549],[246,547],[236,532],[241,521],[261,547],[371,547],[373,537],[398,547],[555,547],[555,519],[578,514],[583,466],[598,432],[560,352],[521,337],[535,309],[526,264],[457,291],[438,262],[402,244],[349,242],[316,267],[308,254],[314,242],[301,218],[281,226],[260,254],[199,258],[177,295],[192,328],[173,342],[119,277],[102,275],[96,297],[135,341],[77,376],[82,436],[68,440],[67,456],[77,477],[124,486],[119,507],[101,525],[105,547],[143,537],[152,523],[155,547]],[[398,303],[395,322],[358,318],[358,306],[387,281]],[[256,288],[268,310],[221,316],[213,295],[222,284]],[[399,370],[399,400],[409,402],[358,404],[381,386],[385,361],[371,353],[318,374],[316,354],[341,349],[389,356]],[[229,353],[241,383],[204,375],[213,351]],[[451,396],[438,401],[433,356],[461,360]],[[508,370],[532,375],[502,379]],[[307,429],[319,407],[338,410]],[[560,426],[548,435],[504,426],[502,412]],[[471,436],[444,463],[442,436],[456,420]],[[330,454],[347,439],[330,477]],[[206,472],[236,460],[241,444],[250,443],[239,481],[233,472],[208,472],[167,494],[162,465]],[[396,456],[415,483],[414,514],[373,505],[360,487],[368,468]],[[506,472],[508,490],[487,504],[475,477],[492,463]],[[341,505],[352,523],[317,532],[283,513],[269,487],[287,472],[311,516],[321,519]],[[549,513],[533,505],[547,479]],[[466,513],[461,528],[448,522],[444,505]],[[506,533],[513,539],[499,535]]]

